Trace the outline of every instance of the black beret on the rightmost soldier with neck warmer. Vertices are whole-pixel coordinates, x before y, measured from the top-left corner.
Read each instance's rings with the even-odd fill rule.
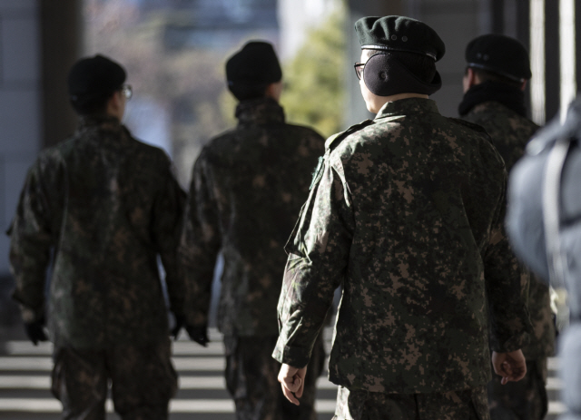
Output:
[[[498,73],[509,79],[530,79],[527,49],[506,35],[487,34],[474,38],[466,47],[468,67]]]

